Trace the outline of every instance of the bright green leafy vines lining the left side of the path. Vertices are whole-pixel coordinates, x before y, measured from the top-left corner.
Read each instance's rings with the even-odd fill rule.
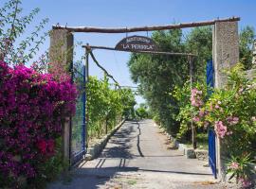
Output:
[[[89,82],[86,84],[86,97],[90,138],[100,137],[103,131],[112,129],[121,116],[125,118],[132,116],[130,113],[134,112],[136,104],[132,90],[113,88],[107,77],[102,80],[89,77]]]

